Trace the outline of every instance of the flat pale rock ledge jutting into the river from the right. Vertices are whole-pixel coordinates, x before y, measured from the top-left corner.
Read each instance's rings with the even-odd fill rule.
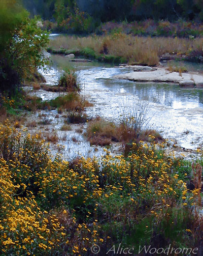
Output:
[[[174,82],[180,86],[203,88],[203,75],[198,73],[179,74],[178,72],[170,72],[165,68],[157,68],[156,70],[148,69],[146,71],[146,67],[142,70],[139,66],[139,71],[133,68],[133,72],[116,75],[114,78],[132,81]]]

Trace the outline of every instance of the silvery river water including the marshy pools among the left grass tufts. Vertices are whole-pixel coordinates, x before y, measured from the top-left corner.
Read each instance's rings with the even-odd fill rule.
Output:
[[[61,72],[60,69],[68,67],[70,64],[65,56],[52,55],[54,69],[49,74],[44,74],[47,84],[55,84],[56,77]],[[65,66],[66,65],[66,66]],[[86,108],[87,116],[90,118],[99,116],[110,122],[119,123],[123,111],[133,109],[136,104],[147,105],[149,108],[150,122],[147,128],[156,129],[161,132],[164,138],[168,138],[168,152],[175,151],[175,155],[181,154],[188,157],[189,155],[196,155],[196,149],[201,148],[202,140],[199,137],[199,130],[202,129],[201,122],[201,94],[197,89],[182,88],[178,89],[176,84],[167,83],[146,83],[146,82],[132,82],[122,79],[112,79],[114,75],[121,75],[131,70],[130,67],[111,67],[97,62],[92,63],[74,63],[73,64],[79,81],[81,81],[82,91],[81,95],[87,99],[93,106]],[[136,66],[137,68],[141,68]],[[56,69],[57,68],[57,69]],[[142,67],[146,69],[147,67]],[[154,70],[155,68],[152,68]],[[136,72],[134,72],[136,73]],[[149,72],[151,73],[151,71]],[[36,95],[49,100],[57,97],[57,92],[46,92],[42,89],[33,90],[28,89],[31,95]],[[111,99],[111,100],[109,100]],[[140,99],[140,100],[139,100]],[[199,99],[199,102],[197,101]],[[42,111],[42,110],[41,110]],[[43,129],[55,129],[59,140],[57,144],[60,147],[60,153],[65,158],[77,156],[80,152],[85,157],[99,156],[103,154],[102,147],[90,147],[88,141],[82,136],[87,127],[86,124],[73,125],[72,131],[59,131],[63,125],[63,121],[67,119],[65,113],[58,113],[57,110],[42,111],[48,119],[51,119],[51,124],[42,126]],[[57,117],[55,119],[55,117]],[[36,118],[36,117],[35,117]],[[42,118],[41,118],[42,119]],[[197,121],[198,119],[198,121]],[[39,120],[42,121],[42,120]],[[192,121],[192,122],[191,122]],[[76,132],[77,141],[73,141],[74,132],[81,128],[82,133]],[[35,131],[35,128],[32,130]],[[60,138],[67,135],[67,140]],[[56,144],[56,145],[57,145]],[[52,145],[54,154],[57,153],[56,145]],[[71,149],[71,152],[69,150]],[[110,151],[113,154],[122,154],[123,147],[120,143],[112,143]],[[89,152],[89,153],[88,153]]]

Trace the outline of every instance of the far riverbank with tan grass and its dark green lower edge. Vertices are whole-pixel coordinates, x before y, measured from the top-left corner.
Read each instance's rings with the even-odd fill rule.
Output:
[[[50,40],[48,51],[74,53],[114,64],[157,66],[163,60],[203,61],[202,38],[138,37],[115,33],[106,36],[59,36]]]

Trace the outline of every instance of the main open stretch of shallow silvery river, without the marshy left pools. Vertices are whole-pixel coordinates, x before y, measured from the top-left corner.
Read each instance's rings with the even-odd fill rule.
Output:
[[[180,88],[178,84],[143,83],[113,79],[114,75],[130,72],[130,68],[113,67],[98,62],[71,63],[64,56],[52,55],[53,70],[47,83],[55,84],[65,68],[73,66],[81,82],[84,97],[94,106],[87,108],[90,116],[103,116],[119,121],[138,104],[148,108],[149,128],[165,138],[177,140],[177,145],[196,149],[203,143],[203,91]],[[46,97],[47,98],[47,97]]]

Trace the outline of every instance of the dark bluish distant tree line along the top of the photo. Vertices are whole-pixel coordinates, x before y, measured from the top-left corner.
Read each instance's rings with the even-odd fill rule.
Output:
[[[32,16],[40,15],[45,20],[57,20],[62,17],[61,15],[67,18],[67,13],[73,10],[76,4],[80,12],[86,12],[94,20],[101,22],[149,18],[203,21],[202,0],[23,0],[23,2]]]

